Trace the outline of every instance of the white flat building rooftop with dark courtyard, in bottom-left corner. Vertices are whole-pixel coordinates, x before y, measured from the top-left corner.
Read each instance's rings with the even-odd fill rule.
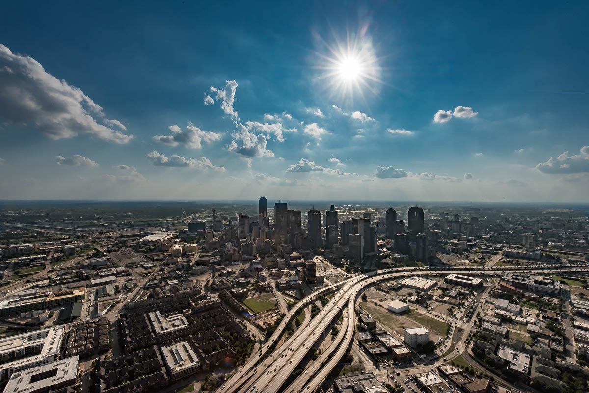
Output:
[[[15,372],[11,375],[4,393],[26,393],[40,391],[58,384],[75,382],[78,373],[78,357],[61,359],[55,362]]]

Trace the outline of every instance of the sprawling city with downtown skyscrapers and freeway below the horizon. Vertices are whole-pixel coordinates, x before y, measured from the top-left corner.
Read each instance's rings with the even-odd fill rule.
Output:
[[[0,202],[0,391],[588,391],[589,207]]]

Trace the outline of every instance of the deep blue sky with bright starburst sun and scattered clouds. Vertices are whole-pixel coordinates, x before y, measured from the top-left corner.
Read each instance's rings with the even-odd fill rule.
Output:
[[[11,2],[0,199],[589,202],[589,4]]]

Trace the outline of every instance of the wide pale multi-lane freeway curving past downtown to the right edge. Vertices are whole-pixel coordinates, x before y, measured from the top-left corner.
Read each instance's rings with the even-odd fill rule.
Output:
[[[252,354],[235,374],[225,384],[216,390],[216,393],[243,392],[243,393],[270,393],[280,391],[284,382],[297,369],[299,363],[315,342],[323,339],[323,334],[330,328],[331,322],[343,313],[342,327],[339,334],[329,344],[320,356],[311,362],[305,371],[299,375],[284,392],[313,392],[325,381],[331,370],[351,347],[355,333],[356,312],[355,302],[360,292],[376,281],[388,280],[405,275],[431,275],[451,274],[456,271],[461,274],[503,274],[511,271],[537,271],[543,274],[562,273],[562,271],[589,271],[587,265],[570,265],[562,267],[558,265],[537,265],[535,267],[480,267],[480,268],[393,268],[369,272],[345,279],[337,284],[329,285],[320,291],[302,299],[296,304],[280,322],[279,327],[270,337],[259,352]],[[321,311],[309,322],[305,320],[303,325],[294,332],[280,346],[276,347],[284,328],[292,321],[294,315],[307,307],[318,297],[336,290],[333,299],[321,309]],[[454,330],[456,332],[457,329]]]

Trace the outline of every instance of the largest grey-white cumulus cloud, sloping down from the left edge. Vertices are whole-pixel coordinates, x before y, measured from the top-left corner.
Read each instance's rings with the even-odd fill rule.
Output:
[[[119,129],[100,124],[99,120],[106,120],[101,106],[81,89],[55,78],[35,59],[14,54],[2,44],[0,118],[15,124],[34,125],[51,139],[73,138],[85,133],[107,142],[126,144],[133,138]]]

